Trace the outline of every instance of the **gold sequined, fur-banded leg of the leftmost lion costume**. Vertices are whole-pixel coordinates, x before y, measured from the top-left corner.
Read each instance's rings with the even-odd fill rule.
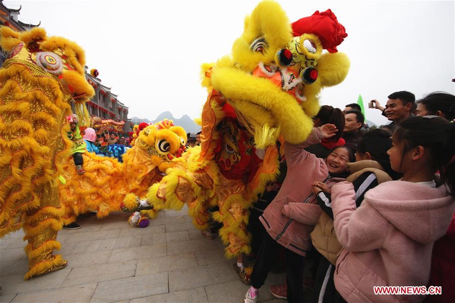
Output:
[[[26,213],[23,227],[24,240],[28,240],[25,251],[30,269],[25,279],[59,270],[68,263],[61,255],[52,254],[54,249],[60,249],[57,232],[63,224],[58,187],[46,183],[36,190],[36,194],[39,195],[40,206]]]

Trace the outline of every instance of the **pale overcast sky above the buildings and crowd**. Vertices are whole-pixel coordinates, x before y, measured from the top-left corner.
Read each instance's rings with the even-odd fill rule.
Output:
[[[453,1],[278,1],[290,21],[332,9],[348,37],[338,47],[351,60],[346,80],[321,93],[321,104],[344,108],[362,94],[377,98],[409,90],[422,97],[455,93]],[[22,21],[76,41],[87,66],[100,72],[129,107],[128,117],[200,115],[206,100],[199,67],[229,54],[243,19],[258,1],[4,1],[22,5]],[[367,119],[384,124],[377,110]]]

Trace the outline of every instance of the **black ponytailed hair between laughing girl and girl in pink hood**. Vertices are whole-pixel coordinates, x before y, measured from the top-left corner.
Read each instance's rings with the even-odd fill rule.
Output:
[[[381,164],[384,171],[393,179],[397,180],[401,174],[392,170],[387,150],[392,147],[391,133],[384,129],[373,129],[363,134],[357,145],[357,153],[369,153],[371,160]]]

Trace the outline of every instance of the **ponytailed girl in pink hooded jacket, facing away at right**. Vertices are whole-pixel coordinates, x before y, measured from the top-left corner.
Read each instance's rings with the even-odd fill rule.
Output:
[[[332,187],[335,232],[344,247],[335,287],[346,301],[425,298],[425,293],[408,294],[404,288],[375,294],[375,286],[427,286],[433,243],[444,235],[455,209],[455,163],[448,164],[455,151],[454,132],[453,124],[436,116],[408,118],[393,134],[388,151],[401,180],[369,190],[358,210],[351,183]],[[433,180],[437,170],[445,184],[439,188]]]

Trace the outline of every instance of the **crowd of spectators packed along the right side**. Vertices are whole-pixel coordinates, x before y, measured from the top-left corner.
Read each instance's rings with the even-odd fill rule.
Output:
[[[252,254],[234,264],[251,285],[245,303],[277,270],[286,281],[269,291],[290,302],[455,298],[455,96],[397,91],[370,108],[390,123],[371,129],[357,104],[322,106],[307,140],[281,147],[281,174],[251,210]],[[422,285],[442,294],[374,292]]]

